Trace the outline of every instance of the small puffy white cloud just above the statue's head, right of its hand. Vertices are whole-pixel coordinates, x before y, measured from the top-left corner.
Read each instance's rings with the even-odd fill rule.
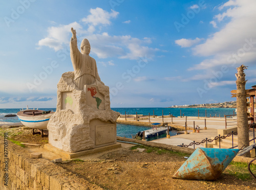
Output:
[[[82,18],[84,23],[89,23],[90,25],[97,26],[97,25],[110,25],[111,18],[116,18],[119,12],[111,10],[109,13],[108,11],[104,11],[101,8],[90,9],[90,15],[86,18]]]

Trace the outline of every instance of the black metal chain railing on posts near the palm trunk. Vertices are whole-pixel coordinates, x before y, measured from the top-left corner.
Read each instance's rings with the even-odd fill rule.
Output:
[[[255,143],[255,139],[256,139],[256,137],[255,137],[255,127],[256,127],[256,124],[254,124],[254,123],[249,126],[249,128],[253,128],[253,138],[251,140],[249,140],[249,141],[253,140],[253,143]],[[212,143],[212,141],[214,141],[214,140],[219,140],[219,148],[221,148],[221,139],[225,139],[225,138],[227,138],[229,136],[232,136],[232,147],[229,148],[229,149],[233,149],[233,148],[238,147],[238,146],[234,146],[233,135],[238,135],[238,133],[231,131],[231,133],[228,133],[226,136],[225,135],[221,136],[219,134],[219,136],[216,136],[214,139],[205,138],[201,142],[196,142],[194,140],[189,145],[184,145],[184,143],[182,143],[181,145],[179,145],[179,147],[189,147],[189,146],[193,146],[194,145],[194,149],[195,149],[195,145],[200,145],[200,144],[206,143],[206,148],[208,148],[207,142]]]

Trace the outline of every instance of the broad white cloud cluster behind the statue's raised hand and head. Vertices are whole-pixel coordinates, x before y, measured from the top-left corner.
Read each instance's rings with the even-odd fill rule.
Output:
[[[118,15],[118,12],[107,12],[101,8],[91,9],[90,15],[82,19],[86,23],[87,30],[83,29],[82,24],[73,22],[69,25],[59,25],[58,27],[48,28],[46,38],[38,41],[38,48],[48,46],[58,51],[67,46],[70,42],[71,31],[73,27],[77,32],[78,46],[79,41],[87,38],[91,44],[91,54],[95,54],[98,58],[118,57],[120,59],[136,60],[145,55],[148,58],[154,57],[159,49],[148,47],[152,43],[151,38],[143,39],[134,38],[129,35],[111,36],[107,32],[101,32],[102,26],[110,25],[111,19]],[[109,63],[106,63],[109,64]],[[111,63],[112,64],[112,63]]]

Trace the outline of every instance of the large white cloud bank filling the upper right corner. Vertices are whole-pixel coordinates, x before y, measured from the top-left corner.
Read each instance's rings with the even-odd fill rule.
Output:
[[[192,50],[197,56],[212,56],[190,69],[211,69],[219,65],[238,66],[256,61],[256,1],[228,1],[214,16],[217,22],[223,22],[222,29],[212,34],[202,44]],[[224,9],[227,8],[227,9]],[[229,18],[224,19],[224,18]],[[225,23],[227,22],[227,23]],[[213,23],[213,22],[212,22]]]

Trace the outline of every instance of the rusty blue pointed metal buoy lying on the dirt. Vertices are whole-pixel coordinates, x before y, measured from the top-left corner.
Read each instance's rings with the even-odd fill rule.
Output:
[[[239,149],[197,148],[173,178],[217,180],[238,152]]]

